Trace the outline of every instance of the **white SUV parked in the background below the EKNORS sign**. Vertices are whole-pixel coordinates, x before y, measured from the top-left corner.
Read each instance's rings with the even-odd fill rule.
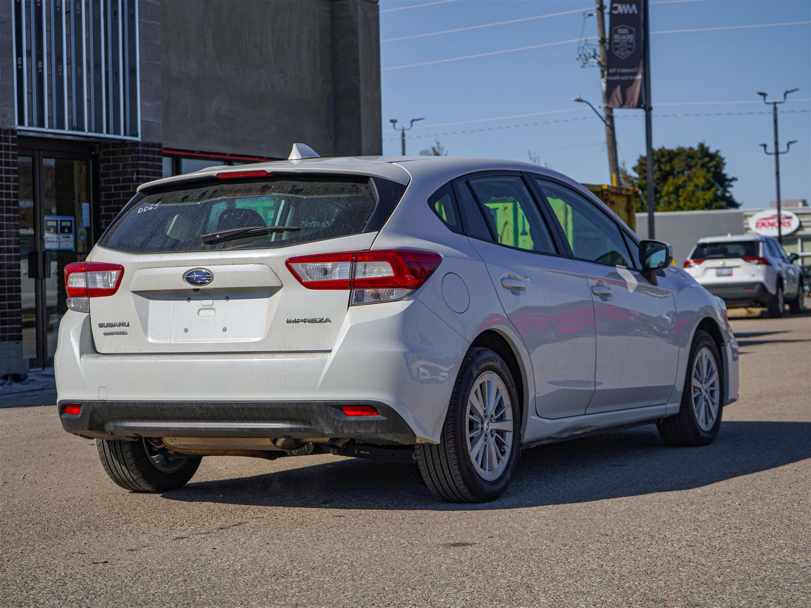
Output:
[[[782,317],[788,303],[792,313],[804,310],[803,280],[774,238],[759,234],[706,237],[699,240],[684,269],[730,308],[764,306],[770,317]]]

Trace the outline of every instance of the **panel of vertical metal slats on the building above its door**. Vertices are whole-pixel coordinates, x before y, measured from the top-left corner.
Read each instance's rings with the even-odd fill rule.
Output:
[[[138,0],[11,6],[18,128],[137,139]]]

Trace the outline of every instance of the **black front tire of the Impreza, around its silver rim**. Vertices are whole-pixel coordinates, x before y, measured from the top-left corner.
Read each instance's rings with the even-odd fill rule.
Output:
[[[704,430],[698,424],[695,409],[693,409],[693,366],[697,353],[702,348],[710,349],[715,358],[719,375],[719,409],[718,417],[710,430]],[[684,378],[684,391],[681,394],[679,413],[664,418],[656,423],[659,435],[664,443],[671,446],[702,446],[712,443],[721,429],[723,417],[723,404],[726,396],[723,392],[723,359],[712,336],[699,329],[693,337],[693,346],[690,347],[690,358],[687,363],[687,373]]]

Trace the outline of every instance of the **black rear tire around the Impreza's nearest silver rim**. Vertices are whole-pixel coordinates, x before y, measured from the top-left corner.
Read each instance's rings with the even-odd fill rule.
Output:
[[[507,463],[492,481],[484,479],[474,469],[467,446],[468,396],[474,382],[487,371],[498,375],[504,383],[513,419],[512,445]],[[453,387],[439,445],[419,443],[415,452],[425,485],[441,499],[451,503],[486,503],[504,494],[521,452],[521,405],[513,375],[498,354],[483,348],[470,349],[466,353]]]

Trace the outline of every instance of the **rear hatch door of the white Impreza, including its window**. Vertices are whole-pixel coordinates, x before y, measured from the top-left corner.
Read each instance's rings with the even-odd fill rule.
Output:
[[[114,295],[90,298],[98,352],[331,350],[349,290],[306,289],[285,261],[369,249],[404,190],[378,178],[282,174],[139,195],[90,258],[124,269]]]

